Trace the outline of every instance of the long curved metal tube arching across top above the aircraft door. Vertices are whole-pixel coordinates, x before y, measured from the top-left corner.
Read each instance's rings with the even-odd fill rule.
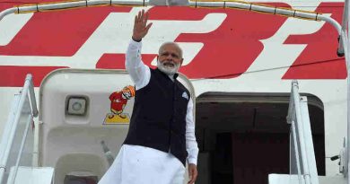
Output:
[[[23,4],[9,8],[0,13],[0,21],[7,14],[11,13],[39,13],[39,12],[49,12],[57,10],[66,10],[72,8],[84,8],[92,6],[104,6],[104,5],[126,5],[126,6],[146,6],[146,5],[157,5],[160,1],[157,0],[78,0],[78,1],[68,1],[68,2],[54,2],[54,3],[42,3],[42,4]],[[162,2],[162,1],[161,1]],[[271,5],[264,4],[253,4],[248,2],[242,2],[239,0],[228,0],[228,1],[218,1],[218,0],[179,0],[181,4],[175,3],[168,5],[186,5],[194,8],[234,8],[245,11],[252,11],[258,13],[270,13],[281,16],[288,16],[298,19],[306,19],[311,21],[325,21],[332,24],[339,35],[341,35],[342,26],[333,18],[323,15],[322,13],[307,12],[285,7],[274,7]],[[172,2],[172,1],[171,1]],[[338,52],[343,54],[343,48],[339,48]]]

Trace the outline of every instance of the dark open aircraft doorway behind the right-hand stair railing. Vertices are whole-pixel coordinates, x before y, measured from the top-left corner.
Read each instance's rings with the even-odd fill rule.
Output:
[[[325,175],[323,104],[306,96],[317,168]],[[267,184],[269,173],[289,174],[288,102],[286,93],[206,92],[197,97],[197,183]]]

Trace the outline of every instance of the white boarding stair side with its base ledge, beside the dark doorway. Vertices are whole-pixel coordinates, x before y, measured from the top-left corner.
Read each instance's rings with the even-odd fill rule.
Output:
[[[299,94],[298,82],[292,82],[287,115],[290,124],[290,174],[269,174],[269,184],[346,184],[347,176],[319,176],[313,149],[308,101]],[[345,153],[345,152],[342,152]],[[340,156],[340,171],[345,171],[345,154]]]

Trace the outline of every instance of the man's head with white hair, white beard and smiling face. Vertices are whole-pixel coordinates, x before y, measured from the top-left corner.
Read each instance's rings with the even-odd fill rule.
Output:
[[[182,61],[179,48],[170,43],[160,49],[157,66],[165,74],[176,74]]]

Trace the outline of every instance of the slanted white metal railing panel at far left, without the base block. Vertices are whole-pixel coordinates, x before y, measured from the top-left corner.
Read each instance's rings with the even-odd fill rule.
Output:
[[[19,166],[32,166],[33,117],[38,116],[31,74],[27,74],[22,92],[14,95],[10,115],[0,143],[0,184],[14,182]],[[9,179],[10,171],[11,179]]]

